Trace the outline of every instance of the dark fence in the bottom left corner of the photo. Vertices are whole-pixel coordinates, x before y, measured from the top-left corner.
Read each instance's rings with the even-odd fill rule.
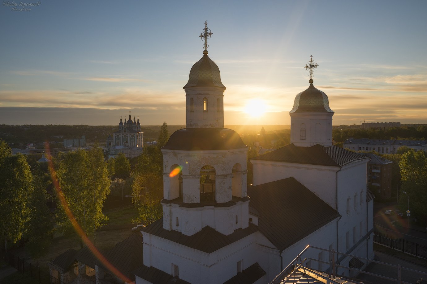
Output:
[[[40,268],[33,265],[31,262],[27,262],[20,258],[18,255],[14,255],[11,252],[6,252],[4,255],[4,261],[10,266],[16,268],[20,273],[26,274],[31,278],[34,278],[34,283],[39,284],[50,284],[50,283],[61,283],[61,281],[49,274],[49,268]]]

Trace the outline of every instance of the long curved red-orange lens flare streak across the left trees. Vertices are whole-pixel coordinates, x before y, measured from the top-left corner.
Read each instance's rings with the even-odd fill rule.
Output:
[[[46,145],[45,149],[47,150],[47,152],[49,152],[49,143],[45,145]],[[79,223],[77,222],[76,218],[73,215],[73,212],[71,212],[70,207],[68,207],[67,201],[65,200],[64,192],[62,192],[59,186],[59,182],[58,182],[58,179],[56,178],[56,172],[55,172],[52,159],[50,159],[49,161],[49,168],[50,168],[50,175],[52,177],[52,183],[58,195],[58,199],[61,202],[62,207],[64,207],[65,214],[67,214],[67,217],[68,219],[70,219],[70,222],[73,225],[74,229],[79,234],[80,238],[82,238],[82,241],[88,246],[89,250],[91,250],[91,252],[104,265],[105,268],[110,270],[114,275],[116,275],[118,278],[122,279],[123,281],[127,283],[132,282],[131,279],[123,275],[123,273],[121,273],[119,270],[117,270],[116,267],[114,267],[111,263],[108,262],[108,260],[104,257],[104,255],[102,255],[102,253],[99,252],[99,250],[94,246],[91,240],[89,240],[85,232],[83,232],[82,227],[80,227]]]

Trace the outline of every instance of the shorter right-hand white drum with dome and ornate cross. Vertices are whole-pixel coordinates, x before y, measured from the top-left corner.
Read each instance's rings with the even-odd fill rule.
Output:
[[[328,96],[313,86],[313,71],[319,66],[310,56],[304,66],[310,73],[310,86],[295,97],[291,117],[291,143],[295,146],[332,146],[332,116]]]

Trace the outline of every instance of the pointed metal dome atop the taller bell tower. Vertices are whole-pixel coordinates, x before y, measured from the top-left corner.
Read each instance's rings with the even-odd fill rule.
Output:
[[[183,89],[196,86],[222,87],[225,89],[225,86],[222,85],[221,82],[218,66],[207,54],[203,55],[202,58],[191,67],[188,82]]]

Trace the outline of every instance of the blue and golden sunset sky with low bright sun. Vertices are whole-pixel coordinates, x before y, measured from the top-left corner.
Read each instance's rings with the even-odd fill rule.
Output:
[[[0,124],[185,124],[205,21],[225,124],[290,124],[310,55],[334,125],[427,123],[425,0],[1,4]]]

